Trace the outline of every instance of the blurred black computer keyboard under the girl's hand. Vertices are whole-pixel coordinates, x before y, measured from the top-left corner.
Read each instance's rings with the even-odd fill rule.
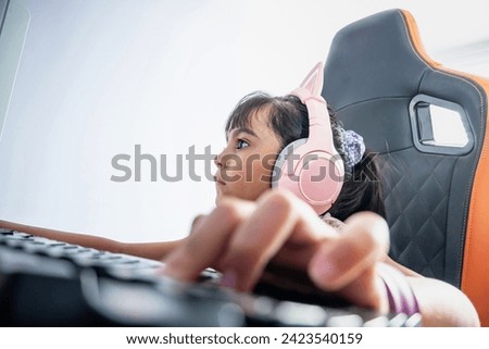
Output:
[[[419,326],[336,297],[261,284],[252,294],[158,275],[162,262],[0,228],[0,326]],[[324,296],[324,297],[323,297]]]

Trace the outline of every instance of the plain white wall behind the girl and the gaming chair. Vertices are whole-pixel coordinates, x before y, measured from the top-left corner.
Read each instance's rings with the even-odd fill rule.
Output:
[[[0,219],[121,240],[186,235],[214,187],[187,172],[115,183],[114,155],[218,152],[240,97],[291,90],[350,22],[406,9],[435,59],[489,76],[484,0],[12,2],[30,20],[0,140]]]

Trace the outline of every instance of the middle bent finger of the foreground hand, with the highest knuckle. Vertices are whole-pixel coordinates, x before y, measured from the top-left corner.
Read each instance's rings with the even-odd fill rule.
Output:
[[[309,205],[291,194],[267,191],[229,241],[223,260],[223,285],[242,291],[251,290],[266,264],[286,241],[311,247],[310,250],[315,251],[322,239],[335,234]]]

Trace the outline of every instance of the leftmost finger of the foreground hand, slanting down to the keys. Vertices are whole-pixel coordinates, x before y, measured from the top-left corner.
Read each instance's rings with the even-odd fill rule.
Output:
[[[163,260],[162,274],[191,282],[224,255],[229,236],[254,210],[252,202],[224,198],[195,227],[183,246]]]

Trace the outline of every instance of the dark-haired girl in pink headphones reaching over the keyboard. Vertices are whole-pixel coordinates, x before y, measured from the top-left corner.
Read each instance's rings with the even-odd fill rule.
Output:
[[[344,178],[334,204],[324,212],[288,190],[271,189],[280,172],[275,167],[277,154],[313,129],[308,100],[324,103],[322,65],[315,70],[315,78],[303,84],[306,90],[298,92],[304,98],[256,92],[238,103],[226,124],[227,146],[215,159],[216,208],[197,217],[181,240],[122,244],[8,222],[0,226],[112,252],[164,258],[162,273],[181,281],[195,281],[213,266],[223,272],[223,286],[250,291],[263,277],[279,275],[281,283],[299,274],[316,289],[335,291],[358,306],[419,311],[427,326],[478,326],[473,304],[459,289],[389,259],[375,157],[331,111],[328,115],[324,108],[318,113],[330,119],[334,150],[340,155],[337,174]]]

